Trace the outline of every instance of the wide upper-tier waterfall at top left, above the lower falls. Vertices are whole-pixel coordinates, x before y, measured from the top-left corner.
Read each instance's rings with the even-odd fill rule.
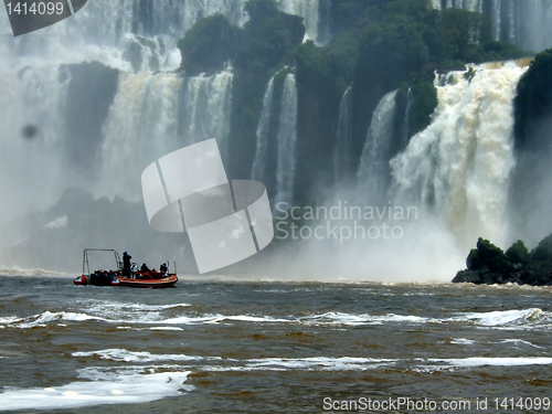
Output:
[[[8,19],[1,19],[0,43],[22,66],[38,59],[96,60],[128,72],[173,70],[180,64],[176,44],[197,20],[223,13],[243,25],[244,7],[245,0],[94,0],[71,19],[17,39]]]

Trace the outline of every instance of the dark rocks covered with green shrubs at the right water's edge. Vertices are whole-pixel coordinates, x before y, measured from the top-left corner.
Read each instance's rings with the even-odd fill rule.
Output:
[[[489,241],[479,238],[477,248],[466,258],[466,266],[453,283],[552,286],[552,234],[531,253],[521,241],[503,253]]]

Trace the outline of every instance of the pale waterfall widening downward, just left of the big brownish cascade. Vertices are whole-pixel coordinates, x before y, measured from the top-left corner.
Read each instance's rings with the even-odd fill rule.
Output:
[[[375,200],[381,200],[388,190],[395,96],[396,91],[390,92],[375,108],[357,172],[360,185]]]

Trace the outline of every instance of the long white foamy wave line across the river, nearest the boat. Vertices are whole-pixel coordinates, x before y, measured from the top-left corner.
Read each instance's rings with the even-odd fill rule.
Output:
[[[543,328],[552,325],[552,315],[539,308],[495,310],[489,312],[459,314],[452,318],[431,318],[415,315],[371,315],[329,311],[325,314],[288,316],[286,318],[269,315],[162,315],[162,310],[189,307],[189,304],[142,305],[142,304],[95,304],[87,312],[46,310],[29,317],[0,317],[0,326],[7,328],[34,328],[63,322],[98,321],[118,323],[118,329],[137,330],[181,330],[178,326],[217,325],[217,323],[294,323],[305,326],[365,326],[365,325],[421,325],[421,323],[471,323],[488,328],[527,329]],[[128,326],[129,325],[129,326]],[[151,325],[155,325],[153,327]],[[146,326],[146,327],[145,327]],[[458,343],[458,342],[455,342]],[[467,342],[465,342],[467,343]]]

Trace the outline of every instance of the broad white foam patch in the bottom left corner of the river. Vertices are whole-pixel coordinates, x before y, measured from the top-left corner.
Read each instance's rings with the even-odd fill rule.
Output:
[[[93,381],[76,381],[46,389],[14,389],[0,393],[0,411],[147,403],[193,390],[193,386],[183,384],[189,374],[189,371],[104,373],[87,369],[82,370],[79,376]]]

